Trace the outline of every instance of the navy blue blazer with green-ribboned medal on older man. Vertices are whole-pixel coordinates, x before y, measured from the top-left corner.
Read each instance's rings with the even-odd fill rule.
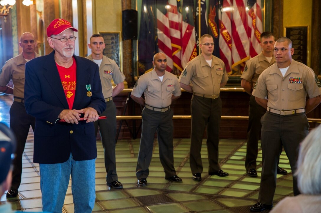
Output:
[[[70,153],[76,161],[95,159],[97,148],[93,122],[56,122],[60,112],[69,109],[69,106],[54,54],[55,51],[52,51],[26,63],[24,103],[27,113],[36,117],[33,162],[63,163]],[[75,55],[74,59],[77,82],[73,109],[92,107],[101,114],[106,102],[101,92],[98,65]],[[91,85],[91,97],[87,96],[87,84]]]

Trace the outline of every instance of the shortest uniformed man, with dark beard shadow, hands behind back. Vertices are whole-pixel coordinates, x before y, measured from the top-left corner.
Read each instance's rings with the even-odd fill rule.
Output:
[[[165,179],[182,182],[174,168],[173,111],[170,108],[172,101],[180,97],[181,90],[177,76],[166,72],[167,59],[164,53],[155,54],[153,65],[154,69],[151,72],[138,79],[131,94],[134,101],[145,106],[142,112],[142,136],[136,167],[138,185],[142,186],[147,185],[155,132]],[[142,98],[143,93],[145,99]]]

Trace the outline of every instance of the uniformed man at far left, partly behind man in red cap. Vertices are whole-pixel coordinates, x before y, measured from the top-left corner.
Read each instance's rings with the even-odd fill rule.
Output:
[[[27,114],[23,99],[25,64],[27,61],[40,56],[35,52],[36,45],[35,37],[31,33],[23,33],[19,43],[19,46],[22,47],[22,53],[6,61],[0,70],[0,92],[13,94],[13,104],[10,108],[10,129],[17,140],[16,157],[13,160],[12,184],[6,194],[7,197],[18,195],[22,173],[22,154],[30,125],[34,130],[36,122],[34,117]],[[13,88],[7,86],[10,80],[13,82]]]

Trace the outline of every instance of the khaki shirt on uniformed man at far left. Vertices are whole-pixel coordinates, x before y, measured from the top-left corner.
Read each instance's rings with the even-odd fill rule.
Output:
[[[35,52],[35,56],[40,55]],[[13,82],[13,96],[23,98],[24,92],[24,69],[27,61],[23,58],[22,53],[5,62],[0,70],[0,86],[6,86],[10,79]]]

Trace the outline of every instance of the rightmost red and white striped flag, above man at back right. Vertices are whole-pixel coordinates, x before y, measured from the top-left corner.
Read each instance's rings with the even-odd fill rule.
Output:
[[[260,36],[263,32],[261,0],[256,0],[248,14],[251,20],[250,57],[253,58],[262,51],[260,45]]]

